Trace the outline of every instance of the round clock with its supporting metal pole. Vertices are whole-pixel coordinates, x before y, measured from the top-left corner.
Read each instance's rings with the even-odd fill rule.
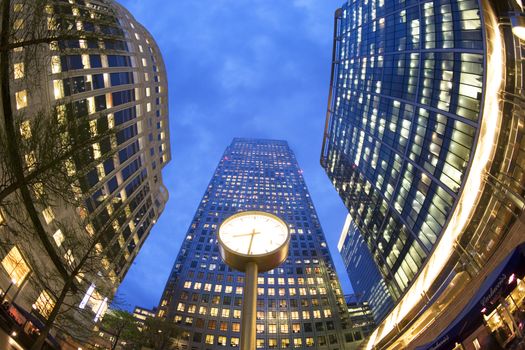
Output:
[[[219,227],[219,251],[231,268],[245,273],[242,305],[241,350],[255,349],[257,274],[281,265],[288,257],[290,231],[277,216],[245,211]]]

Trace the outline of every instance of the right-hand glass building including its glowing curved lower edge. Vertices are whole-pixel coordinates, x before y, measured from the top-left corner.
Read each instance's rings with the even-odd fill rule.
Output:
[[[348,1],[335,17],[321,164],[396,301],[368,346],[413,346],[523,240],[523,7]]]

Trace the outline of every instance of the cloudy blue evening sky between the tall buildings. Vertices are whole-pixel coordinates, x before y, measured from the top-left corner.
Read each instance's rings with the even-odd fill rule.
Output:
[[[169,87],[170,200],[118,290],[156,306],[182,239],[233,137],[287,140],[337,252],[346,209],[319,165],[333,18],[342,0],[120,0],[159,45]]]

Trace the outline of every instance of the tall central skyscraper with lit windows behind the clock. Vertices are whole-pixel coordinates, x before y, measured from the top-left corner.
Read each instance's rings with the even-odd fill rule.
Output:
[[[194,349],[239,346],[243,274],[219,256],[217,228],[262,210],[290,227],[288,259],[259,275],[257,348],[351,349],[352,330],[302,170],[285,141],[236,138],[224,152],[188,229],[159,304]]]

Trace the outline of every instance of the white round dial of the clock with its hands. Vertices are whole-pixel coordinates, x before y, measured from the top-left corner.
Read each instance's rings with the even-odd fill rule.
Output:
[[[257,256],[272,253],[288,239],[288,227],[277,216],[244,212],[226,219],[219,228],[223,246],[238,254]]]

